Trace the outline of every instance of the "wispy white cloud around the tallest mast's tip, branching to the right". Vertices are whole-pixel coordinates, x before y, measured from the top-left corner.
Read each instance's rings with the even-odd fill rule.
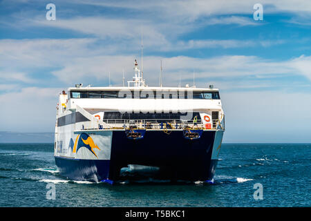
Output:
[[[59,19],[46,21],[36,19],[30,21],[39,26],[52,26],[64,28],[84,34],[92,35],[101,40],[106,40],[109,45],[105,50],[120,52],[127,50],[139,50],[141,35],[144,46],[152,51],[182,51],[194,48],[245,48],[254,46],[273,46],[284,44],[284,40],[236,40],[236,39],[201,39],[189,41],[176,41],[178,35],[191,32],[207,24],[238,23],[247,25],[253,21],[240,17],[214,18],[203,22],[199,26],[181,26],[175,23],[152,23],[138,19],[108,19],[105,17],[78,17],[73,19]],[[257,25],[254,23],[253,25]],[[169,30],[169,32],[167,32]],[[112,50],[111,50],[112,49]]]

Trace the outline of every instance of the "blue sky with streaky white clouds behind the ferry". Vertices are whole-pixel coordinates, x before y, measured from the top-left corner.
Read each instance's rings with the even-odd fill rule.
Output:
[[[48,3],[55,20],[47,20]],[[263,6],[255,20],[254,5]],[[311,1],[0,1],[0,131],[53,132],[70,86],[220,89],[223,142],[311,142]]]

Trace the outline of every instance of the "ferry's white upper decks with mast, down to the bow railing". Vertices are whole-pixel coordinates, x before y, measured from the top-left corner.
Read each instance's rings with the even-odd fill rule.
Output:
[[[82,113],[92,124],[85,124],[86,128],[93,128],[93,122],[122,128],[134,121],[139,128],[147,127],[148,123],[149,129],[159,129],[163,122],[170,122],[172,128],[181,129],[196,119],[200,128],[216,129],[223,121],[218,88],[147,86],[140,77],[136,61],[134,70],[135,77],[128,81],[128,86],[83,87],[76,84],[68,88],[68,94],[60,95],[62,108],[57,117],[67,117],[64,122],[73,122],[68,117],[70,113]],[[209,126],[205,125],[205,117],[211,119]],[[59,121],[57,125],[66,125],[64,122]]]

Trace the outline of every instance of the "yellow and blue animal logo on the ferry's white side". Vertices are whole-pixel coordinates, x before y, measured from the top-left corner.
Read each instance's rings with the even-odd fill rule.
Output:
[[[73,149],[73,153],[77,153],[79,148],[82,147],[88,148],[88,150],[91,151],[96,157],[97,155],[93,149],[100,150],[97,144],[94,143],[92,137],[90,137],[87,133],[81,133],[77,135],[77,138],[75,139],[75,144],[73,144],[73,140],[70,139],[69,148]]]

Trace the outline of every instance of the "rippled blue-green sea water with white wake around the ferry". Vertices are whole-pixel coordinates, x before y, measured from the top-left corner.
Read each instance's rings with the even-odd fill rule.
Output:
[[[311,144],[223,144],[215,184],[136,177],[111,186],[59,175],[53,144],[0,144],[0,206],[311,206],[310,169]]]

